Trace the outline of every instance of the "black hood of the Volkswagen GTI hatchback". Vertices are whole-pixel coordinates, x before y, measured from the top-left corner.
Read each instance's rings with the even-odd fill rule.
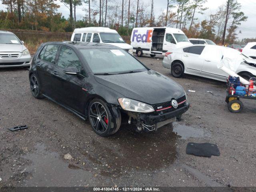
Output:
[[[147,104],[167,102],[185,95],[184,89],[178,83],[153,70],[94,77],[97,82],[124,97]]]

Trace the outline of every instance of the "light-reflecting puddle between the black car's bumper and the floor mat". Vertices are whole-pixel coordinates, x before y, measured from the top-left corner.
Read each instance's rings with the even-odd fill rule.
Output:
[[[205,138],[210,137],[210,133],[204,131],[203,129],[194,128],[191,126],[181,125],[177,122],[172,123],[173,132],[181,136],[182,139],[193,138]]]

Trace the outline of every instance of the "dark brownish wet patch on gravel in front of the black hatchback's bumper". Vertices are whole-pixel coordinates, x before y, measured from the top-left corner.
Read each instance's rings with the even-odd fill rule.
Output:
[[[129,170],[158,170],[176,160],[178,137],[170,126],[142,134],[123,126],[110,137],[92,139],[90,148],[82,154],[104,176],[118,176]]]

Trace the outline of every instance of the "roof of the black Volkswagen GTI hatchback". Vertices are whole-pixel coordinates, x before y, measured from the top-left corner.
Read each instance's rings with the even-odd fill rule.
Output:
[[[74,41],[65,41],[65,42],[47,42],[45,44],[60,44],[60,45],[70,45],[78,49],[92,49],[92,48],[106,48],[106,49],[121,49],[117,46],[105,44],[105,43],[91,43],[91,42],[74,42]]]

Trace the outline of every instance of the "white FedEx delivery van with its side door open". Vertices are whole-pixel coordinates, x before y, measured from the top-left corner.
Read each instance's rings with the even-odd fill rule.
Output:
[[[192,45],[180,29],[169,27],[134,28],[131,35],[133,52],[142,54],[164,55],[165,52],[182,46]]]

